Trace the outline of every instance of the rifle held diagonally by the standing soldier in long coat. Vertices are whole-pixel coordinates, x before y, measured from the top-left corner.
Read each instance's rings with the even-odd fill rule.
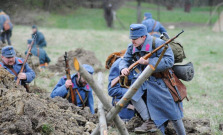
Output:
[[[180,34],[182,34],[184,32],[184,30],[182,30],[180,33],[178,33],[175,37],[167,40],[165,43],[163,43],[162,45],[160,45],[159,47],[157,47],[156,49],[154,49],[152,52],[146,54],[143,56],[143,58],[145,60],[147,60],[149,57],[151,57],[155,52],[157,52],[158,50],[160,50],[161,48],[163,48],[165,45],[169,44],[170,42],[172,42],[174,39],[176,39]],[[129,72],[131,72],[133,69],[136,68],[136,66],[139,65],[139,60],[137,60],[136,62],[134,62],[132,65],[130,65],[128,67]],[[112,80],[111,82],[111,87],[114,87],[118,82],[119,82],[120,76],[116,77],[115,79]]]

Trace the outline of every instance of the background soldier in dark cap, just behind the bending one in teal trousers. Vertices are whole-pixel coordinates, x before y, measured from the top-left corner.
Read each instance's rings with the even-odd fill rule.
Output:
[[[38,31],[38,28],[36,25],[33,25],[32,26],[32,39],[34,38],[35,34],[36,34],[36,40],[35,40],[34,46],[37,46],[40,48],[46,47],[47,43],[46,43],[43,33]]]

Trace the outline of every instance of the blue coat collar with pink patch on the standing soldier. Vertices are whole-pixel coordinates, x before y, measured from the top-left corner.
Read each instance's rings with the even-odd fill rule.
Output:
[[[152,50],[152,45],[150,45],[150,41],[152,40],[151,36],[149,34],[147,34],[146,39],[142,45],[141,49],[138,49],[136,47],[133,46],[132,49],[132,54],[135,54],[137,52],[143,51],[143,52],[150,52]]]

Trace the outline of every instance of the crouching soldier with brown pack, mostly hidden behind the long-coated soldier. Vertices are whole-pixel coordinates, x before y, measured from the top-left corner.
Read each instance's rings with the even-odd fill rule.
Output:
[[[112,57],[114,54],[117,54],[116,57]],[[119,63],[121,61],[121,55],[124,53],[113,53],[111,54],[106,61],[106,68],[110,69],[108,77],[108,95],[112,97],[112,104],[115,105],[127,92],[127,88],[121,87],[120,84],[116,84],[114,87],[111,87],[111,82],[119,76]],[[123,121],[128,121],[135,116],[134,106],[129,103],[127,104],[120,112],[119,116]]]

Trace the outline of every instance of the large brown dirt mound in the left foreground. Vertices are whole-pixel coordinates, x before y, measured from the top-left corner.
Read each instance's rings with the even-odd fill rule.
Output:
[[[97,116],[60,97],[43,98],[17,87],[11,74],[0,68],[0,134],[88,135]]]

